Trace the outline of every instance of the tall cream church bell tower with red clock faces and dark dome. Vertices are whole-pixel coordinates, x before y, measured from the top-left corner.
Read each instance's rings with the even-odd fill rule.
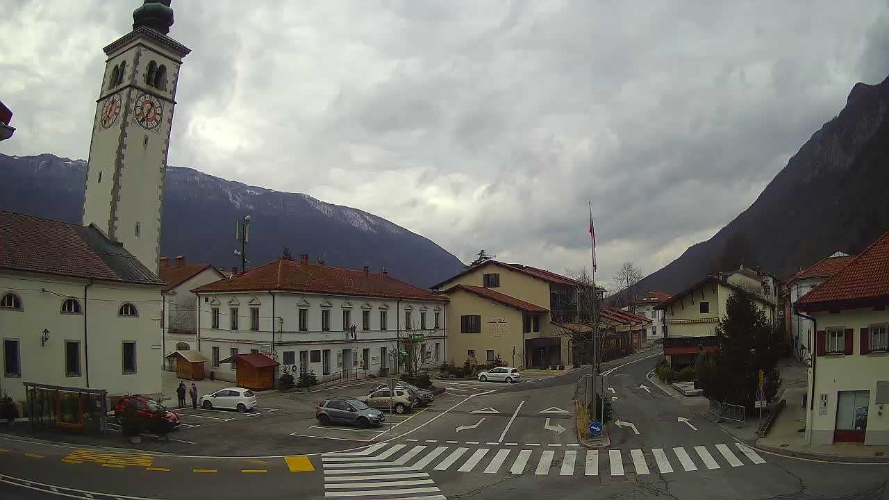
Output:
[[[105,47],[86,167],[84,226],[95,224],[158,272],[161,204],[179,69],[171,0],[145,0],[132,31]]]

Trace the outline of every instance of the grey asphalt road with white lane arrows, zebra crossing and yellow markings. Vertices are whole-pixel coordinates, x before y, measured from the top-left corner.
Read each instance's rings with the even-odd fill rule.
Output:
[[[435,407],[397,426],[395,438],[302,437],[304,458],[140,455],[0,438],[0,498],[889,498],[886,464],[826,464],[739,447],[647,381],[655,359],[607,376],[618,419],[638,434],[615,427],[612,447],[597,453],[579,445],[572,415],[562,413],[572,409],[583,375],[574,372],[513,385],[454,382]],[[312,440],[316,452],[306,453]],[[356,449],[367,443],[374,444]]]

